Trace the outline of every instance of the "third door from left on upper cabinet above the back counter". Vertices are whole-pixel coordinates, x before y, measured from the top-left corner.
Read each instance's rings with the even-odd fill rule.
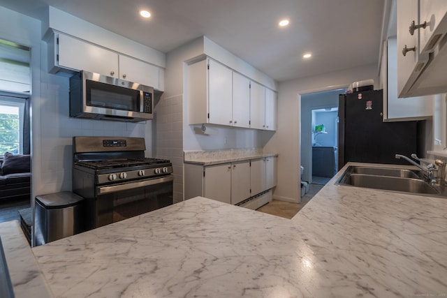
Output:
[[[250,127],[265,128],[265,88],[256,82],[250,87]]]

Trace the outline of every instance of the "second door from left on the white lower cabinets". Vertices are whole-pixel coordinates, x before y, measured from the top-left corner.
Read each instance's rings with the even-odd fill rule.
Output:
[[[250,163],[231,163],[231,204],[250,198]]]

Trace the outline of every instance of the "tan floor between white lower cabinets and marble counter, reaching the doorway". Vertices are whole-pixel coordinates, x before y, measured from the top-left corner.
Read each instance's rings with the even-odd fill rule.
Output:
[[[256,209],[256,211],[291,219],[298,213],[298,211],[300,211],[300,209],[302,209],[302,207],[305,207],[305,204],[312,200],[314,195],[316,195],[323,186],[323,184],[310,184],[309,191],[302,196],[300,203],[272,200],[272,202]]]

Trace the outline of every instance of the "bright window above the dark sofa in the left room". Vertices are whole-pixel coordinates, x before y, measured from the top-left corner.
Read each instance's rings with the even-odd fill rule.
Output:
[[[0,96],[0,156],[23,154],[24,99]]]

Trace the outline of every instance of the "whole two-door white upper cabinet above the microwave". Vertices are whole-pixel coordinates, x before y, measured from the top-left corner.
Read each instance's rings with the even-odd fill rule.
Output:
[[[48,41],[48,71],[58,73],[59,70],[68,70],[68,73],[87,70],[161,91],[164,87],[163,70],[158,66],[63,33],[54,33]]]

